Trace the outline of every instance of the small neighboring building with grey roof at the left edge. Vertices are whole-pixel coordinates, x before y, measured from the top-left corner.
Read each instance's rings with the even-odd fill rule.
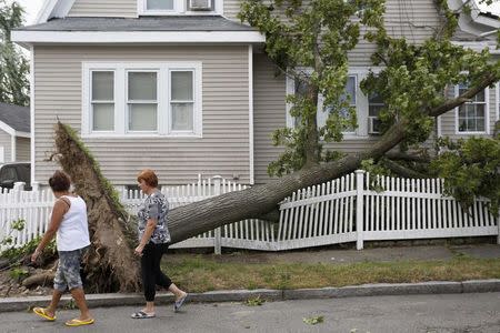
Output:
[[[30,160],[30,108],[0,103],[0,164]]]

